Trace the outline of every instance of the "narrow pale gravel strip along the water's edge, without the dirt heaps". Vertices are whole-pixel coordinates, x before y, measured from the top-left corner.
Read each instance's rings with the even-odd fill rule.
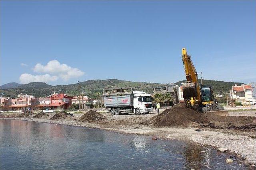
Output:
[[[123,134],[150,135],[157,139],[182,140],[194,142],[199,145],[208,145],[218,148],[227,148],[228,153],[237,155],[238,161],[242,161],[248,166],[255,168],[256,164],[256,139],[250,135],[237,133],[236,131],[227,131],[222,129],[201,129],[180,128],[180,127],[149,127],[145,125],[104,125],[105,123],[78,122],[76,119],[49,120],[36,118],[12,118],[1,117],[0,119],[34,121],[42,123],[52,123],[58,125],[69,125],[76,127],[96,128],[107,131],[114,131]],[[234,132],[234,134],[232,134]]]

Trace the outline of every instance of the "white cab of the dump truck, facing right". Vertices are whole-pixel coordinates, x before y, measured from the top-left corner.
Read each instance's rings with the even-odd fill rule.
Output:
[[[150,94],[138,91],[134,91],[133,94],[133,112],[136,115],[141,113],[148,114],[149,112],[152,112],[152,98]]]

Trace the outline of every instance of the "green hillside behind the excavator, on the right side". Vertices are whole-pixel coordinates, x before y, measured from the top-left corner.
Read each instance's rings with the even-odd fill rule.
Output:
[[[181,83],[186,82],[186,80],[183,81],[179,81],[176,82],[175,84],[179,85]],[[199,80],[199,84],[201,85],[201,80]],[[216,80],[204,80],[203,79],[203,84],[210,84],[212,86],[212,90],[214,94],[226,94],[227,92],[229,92],[229,90],[231,89],[231,86],[234,86],[235,84],[237,84],[238,86],[240,86],[241,82],[224,82],[224,81],[216,81]]]

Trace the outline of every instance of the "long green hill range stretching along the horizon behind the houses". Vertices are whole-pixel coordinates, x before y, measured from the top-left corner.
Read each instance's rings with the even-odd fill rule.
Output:
[[[184,81],[176,82],[180,85]],[[242,84],[240,82],[223,82],[215,80],[203,80],[204,84],[211,84],[214,90],[214,94],[225,94],[234,84]],[[148,82],[131,82],[125,80],[88,80],[85,82],[80,82],[80,92],[84,92],[90,98],[96,98],[97,93],[102,94],[104,88],[116,88],[116,87],[134,87],[138,91],[144,91],[147,93],[152,93],[155,87],[168,86],[168,84],[161,83],[148,83]],[[51,86],[42,82],[32,82],[19,86],[18,88],[11,88],[0,90],[6,95],[17,96],[19,93],[30,94],[36,97],[48,96],[54,92],[62,92],[71,96],[78,95],[78,83],[68,84],[68,85],[57,85]]]

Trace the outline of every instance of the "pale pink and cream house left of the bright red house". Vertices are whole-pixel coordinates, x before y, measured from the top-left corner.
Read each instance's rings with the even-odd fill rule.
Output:
[[[8,106],[8,110],[34,110],[38,104],[38,98],[27,94],[20,94],[18,98],[11,99],[11,105]]]

